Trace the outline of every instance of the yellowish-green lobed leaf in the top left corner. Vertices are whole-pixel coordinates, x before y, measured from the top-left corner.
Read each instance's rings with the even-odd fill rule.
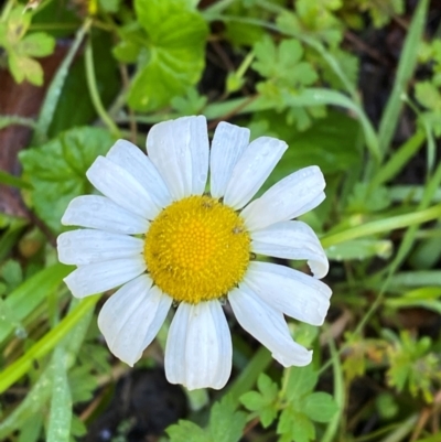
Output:
[[[8,65],[17,83],[29,80],[35,86],[43,85],[43,69],[33,57],[52,54],[55,40],[47,33],[28,34],[31,15],[23,7],[14,8],[6,22],[0,22],[0,46],[8,53]]]

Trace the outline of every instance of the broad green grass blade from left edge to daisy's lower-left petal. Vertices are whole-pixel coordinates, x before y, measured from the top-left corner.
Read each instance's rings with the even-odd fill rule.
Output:
[[[10,315],[13,316],[9,315],[8,321],[6,321],[7,317],[0,314],[0,343],[13,332],[14,324],[23,321],[50,293],[57,289],[63,278],[71,271],[71,267],[60,263],[47,267],[26,279],[7,297],[3,303]]]

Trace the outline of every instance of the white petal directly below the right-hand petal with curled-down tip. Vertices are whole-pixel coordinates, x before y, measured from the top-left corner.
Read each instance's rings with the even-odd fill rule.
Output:
[[[244,280],[265,302],[288,316],[323,324],[332,291],[322,281],[270,262],[250,262]]]

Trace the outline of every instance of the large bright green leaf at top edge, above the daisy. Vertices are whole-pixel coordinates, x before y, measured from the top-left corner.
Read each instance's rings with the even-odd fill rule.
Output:
[[[135,7],[150,44],[140,57],[128,103],[148,111],[166,106],[201,78],[207,25],[183,0],[137,0]]]

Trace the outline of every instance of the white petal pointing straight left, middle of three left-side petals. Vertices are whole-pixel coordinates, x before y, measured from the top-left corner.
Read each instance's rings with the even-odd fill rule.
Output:
[[[142,254],[143,246],[140,238],[104,230],[72,230],[57,238],[60,262],[76,266],[136,257]]]

